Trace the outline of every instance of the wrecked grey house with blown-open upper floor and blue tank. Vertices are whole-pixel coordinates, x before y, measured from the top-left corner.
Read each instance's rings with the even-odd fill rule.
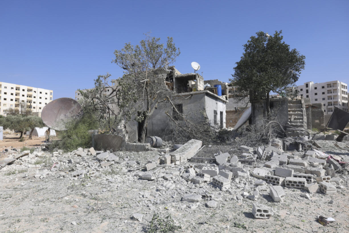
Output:
[[[211,126],[225,128],[226,104],[228,103],[228,85],[218,79],[204,81],[198,73],[180,73],[174,66],[162,69],[157,73],[159,85],[169,90],[172,104],[179,113],[187,115],[189,120],[195,122],[208,122]],[[113,88],[117,79],[112,80]],[[106,93],[109,89],[106,89]],[[79,91],[75,92],[76,100],[81,100]],[[116,104],[111,106],[118,112]],[[148,120],[147,136],[158,136],[163,140],[171,140],[169,117],[176,118],[176,112],[170,103],[159,103],[154,113]],[[139,141],[142,122],[135,120],[125,124],[128,141]]]

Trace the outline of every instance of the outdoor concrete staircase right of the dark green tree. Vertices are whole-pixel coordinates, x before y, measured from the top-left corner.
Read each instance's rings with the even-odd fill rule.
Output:
[[[288,103],[288,129],[306,129],[306,112],[303,99],[291,100]],[[290,137],[299,137],[302,131],[289,131],[287,135]]]

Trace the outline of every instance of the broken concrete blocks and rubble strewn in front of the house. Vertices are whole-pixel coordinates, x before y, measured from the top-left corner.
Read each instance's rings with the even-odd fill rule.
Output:
[[[328,141],[317,142],[326,146]],[[149,220],[151,217],[147,213],[159,211],[160,207],[173,213],[178,210],[193,214],[192,211],[198,210],[220,210],[228,203],[247,211],[246,216],[252,212],[254,218],[274,218],[273,215],[280,216],[280,212],[289,216],[283,211],[284,207],[289,211],[298,202],[313,205],[314,200],[322,205],[322,199],[327,196],[336,203],[336,197],[343,196],[348,190],[347,176],[340,172],[343,165],[333,158],[328,160],[326,153],[315,150],[285,153],[271,145],[240,146],[229,152],[222,148],[204,155],[213,162],[194,162],[191,158],[199,156],[201,147],[200,141],[191,140],[177,150],[158,148],[142,152],[78,148],[69,153],[55,151],[53,154],[38,148],[33,153],[9,154],[3,161],[10,162],[0,162],[0,165],[4,164],[0,172],[27,169],[19,178],[23,179],[20,182],[23,186],[29,183],[25,181],[57,179],[76,185],[83,182],[87,188],[92,188],[98,181],[98,193],[102,193],[99,195],[113,190],[127,191],[127,195],[132,196],[129,205],[133,211],[126,212],[134,222]],[[349,161],[344,151],[335,156]],[[255,164],[251,165],[246,159],[254,160]],[[12,176],[15,174],[5,178]],[[325,200],[327,203],[330,199]],[[288,205],[284,206],[284,203]],[[244,215],[241,218],[245,218]],[[80,220],[74,220],[79,224]]]

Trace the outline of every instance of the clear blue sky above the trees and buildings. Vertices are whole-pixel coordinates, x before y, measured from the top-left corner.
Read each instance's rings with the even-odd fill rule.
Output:
[[[182,73],[228,82],[242,45],[257,31],[282,30],[306,56],[304,82],[349,83],[349,1],[0,1],[0,81],[74,98],[98,75],[122,76],[115,49],[143,33],[172,36]]]

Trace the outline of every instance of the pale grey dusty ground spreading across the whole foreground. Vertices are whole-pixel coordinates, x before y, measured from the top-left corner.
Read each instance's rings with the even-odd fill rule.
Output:
[[[316,149],[349,161],[348,142],[319,140],[317,144],[321,148]],[[206,145],[196,157],[214,158],[218,151],[238,157],[243,153],[229,146]],[[182,178],[188,164],[200,170],[211,161],[163,164],[145,171],[147,161],[156,155],[163,156],[164,151],[116,151],[111,165],[90,155],[87,149],[83,152],[52,154],[37,149],[3,167],[0,232],[147,232],[155,213],[164,217],[170,214],[174,224],[181,226],[176,232],[349,232],[346,172],[336,173],[332,182],[337,189],[334,194],[284,188],[283,201],[274,202],[269,195],[271,184],[255,185],[261,179],[251,174],[264,161],[243,164],[247,178],[233,177],[230,187],[221,190],[211,182],[193,184]],[[285,153],[292,155],[298,151]],[[7,157],[17,152],[9,150],[2,154]],[[150,175],[151,180],[142,179],[144,174]],[[166,182],[173,185],[166,186]],[[257,189],[257,200],[246,198],[246,193],[251,195]],[[181,201],[188,193],[200,195],[199,202]],[[304,193],[310,198],[300,196]],[[207,207],[211,199],[216,201],[216,207]],[[253,203],[272,207],[273,216],[255,219]],[[135,213],[142,214],[142,219],[133,218]],[[325,227],[316,220],[318,215],[336,221]]]

